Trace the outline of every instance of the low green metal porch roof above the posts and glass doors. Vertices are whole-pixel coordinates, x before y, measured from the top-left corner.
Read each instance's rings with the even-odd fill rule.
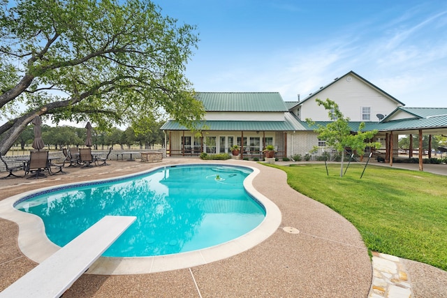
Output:
[[[287,121],[198,121],[196,128],[205,127],[206,131],[294,131],[294,127]],[[162,130],[189,131],[176,121],[167,121]]]

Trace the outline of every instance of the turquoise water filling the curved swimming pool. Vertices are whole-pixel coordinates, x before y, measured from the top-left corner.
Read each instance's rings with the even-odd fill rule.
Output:
[[[256,228],[265,210],[244,190],[251,170],[221,165],[179,165],[126,179],[66,186],[24,198],[21,211],[43,219],[59,246],[106,215],[137,220],[103,255],[142,257],[194,251]]]

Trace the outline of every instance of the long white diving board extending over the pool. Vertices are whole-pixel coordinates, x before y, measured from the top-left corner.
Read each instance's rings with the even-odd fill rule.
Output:
[[[60,297],[135,219],[135,216],[104,216],[0,292],[0,297]]]

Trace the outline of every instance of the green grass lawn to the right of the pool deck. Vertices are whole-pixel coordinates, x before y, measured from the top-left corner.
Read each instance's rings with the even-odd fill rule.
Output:
[[[371,251],[447,270],[446,176],[368,165],[360,179],[360,164],[344,177],[339,164],[328,165],[329,176],[324,164],[273,166],[296,191],[351,221]]]

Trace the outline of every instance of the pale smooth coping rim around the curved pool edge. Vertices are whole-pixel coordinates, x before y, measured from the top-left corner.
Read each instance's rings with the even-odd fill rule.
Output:
[[[182,163],[182,166],[187,165],[203,165],[200,163]],[[212,164],[208,164],[212,165]],[[221,165],[221,164],[216,164]],[[157,255],[153,257],[129,257],[129,258],[111,258],[101,257],[86,272],[87,274],[105,274],[105,275],[119,275],[119,274],[147,274],[161,271],[170,271],[175,269],[184,269],[198,265],[205,265],[210,262],[216,262],[230,258],[244,251],[253,248],[260,244],[265,239],[268,239],[281,224],[281,211],[271,200],[265,195],[256,191],[253,186],[254,178],[259,174],[260,170],[256,167],[248,165],[233,165],[236,167],[246,167],[253,172],[244,179],[244,188],[251,196],[256,198],[265,208],[265,218],[254,230],[237,237],[231,241],[203,248],[196,251],[189,251],[185,253],[177,253],[173,255]],[[116,179],[126,179],[127,177],[134,177],[146,172],[153,172],[160,168],[166,167],[162,165],[154,167],[150,170],[127,174],[119,177],[109,179],[98,179],[94,182],[113,181]],[[75,182],[71,184],[62,184],[59,186],[50,186],[46,188],[38,188],[33,191],[13,195],[0,202],[0,216],[13,221],[19,225],[19,237],[17,244],[20,251],[28,258],[35,262],[41,263],[50,255],[60,249],[59,246],[53,244],[45,234],[45,227],[40,217],[34,214],[27,214],[19,211],[13,207],[15,202],[27,197],[28,195],[39,193],[42,191],[50,191],[54,188],[61,188],[71,185],[85,184],[82,182]]]

